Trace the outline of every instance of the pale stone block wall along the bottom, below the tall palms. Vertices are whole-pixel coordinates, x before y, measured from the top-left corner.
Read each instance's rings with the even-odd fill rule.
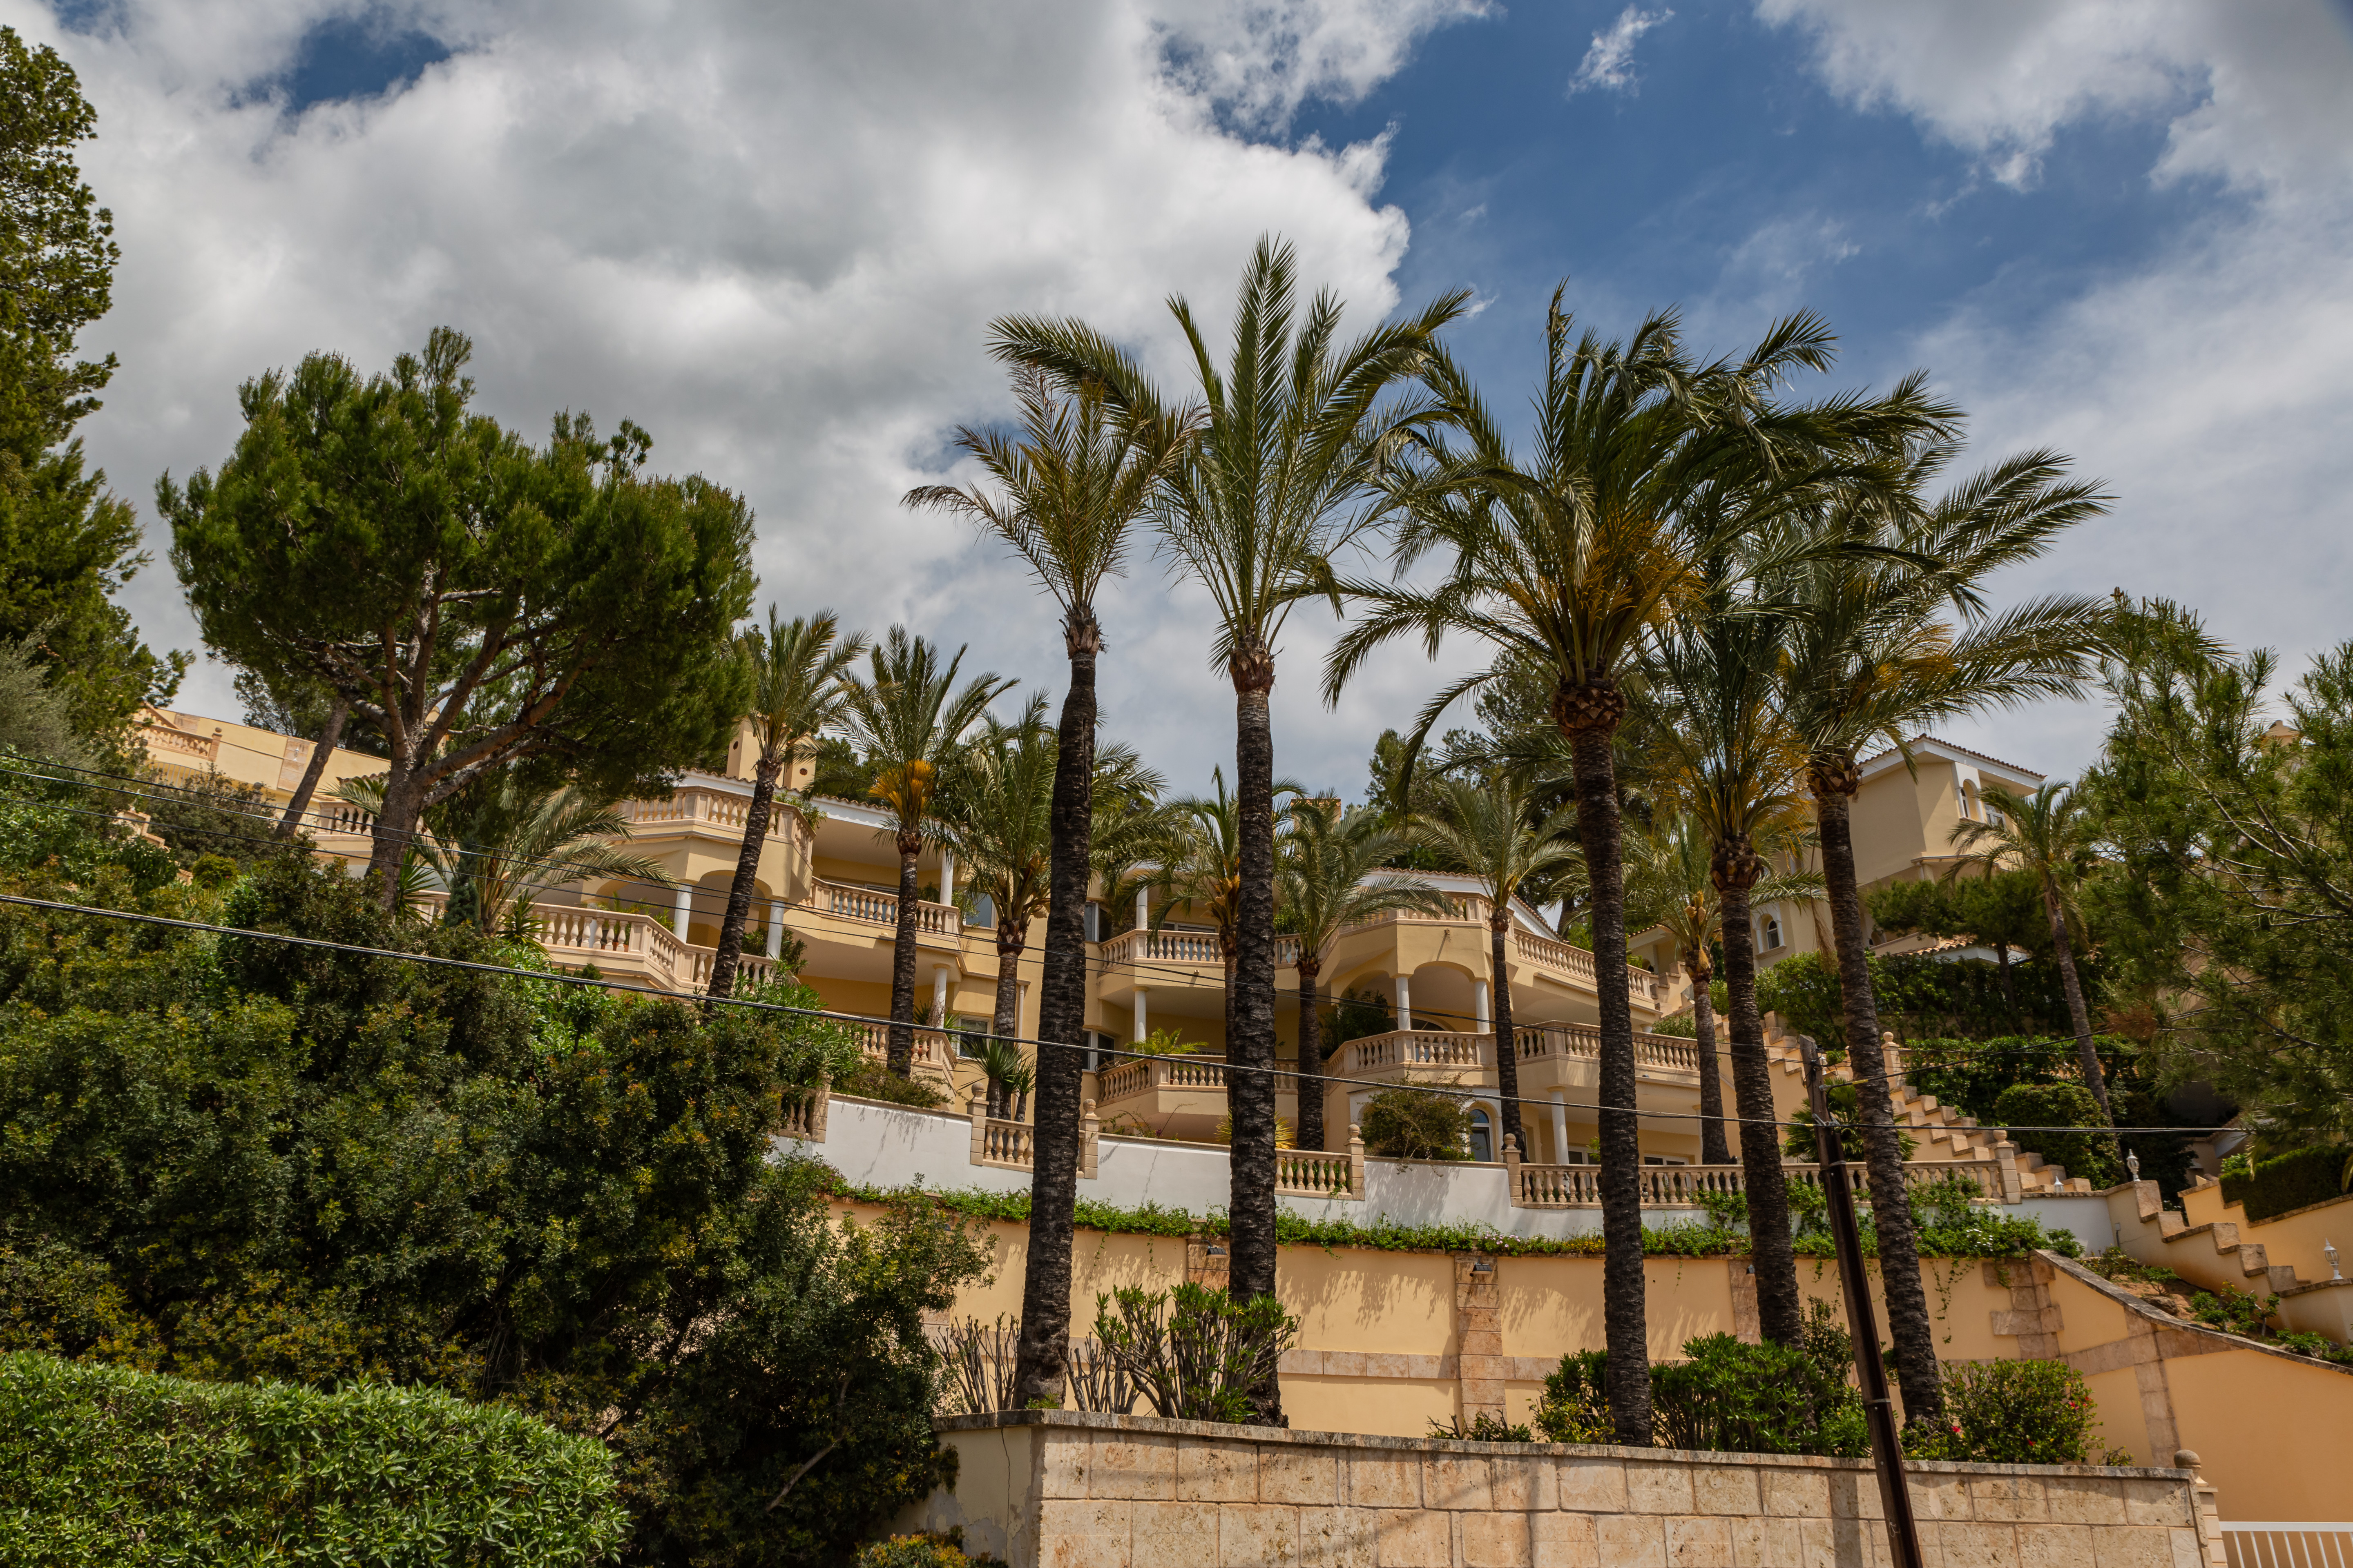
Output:
[[[962,1528],[1012,1568],[1868,1568],[1864,1460],[1459,1443],[1016,1410],[941,1422],[955,1490],[899,1528]],[[2221,1568],[2184,1469],[1911,1465],[1946,1568]],[[2200,1490],[2205,1493],[2200,1497]]]

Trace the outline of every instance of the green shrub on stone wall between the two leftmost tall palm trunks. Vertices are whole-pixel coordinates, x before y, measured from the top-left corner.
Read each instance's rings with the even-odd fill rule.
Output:
[[[1113,1309],[1115,1307],[1115,1309]],[[1299,1319],[1273,1295],[1127,1286],[1094,1298],[1094,1340],[1158,1415],[1245,1422],[1249,1392],[1273,1380]]]

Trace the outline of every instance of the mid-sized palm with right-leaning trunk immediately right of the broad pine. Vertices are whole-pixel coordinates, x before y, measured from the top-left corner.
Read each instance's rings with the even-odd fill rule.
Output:
[[[760,755],[751,769],[751,809],[744,813],[744,849],[727,886],[727,912],[720,914],[720,945],[711,957],[713,997],[734,994],[751,891],[760,879],[760,851],[767,846],[767,820],[776,804],[776,776],[812,755],[819,736],[840,724],[842,682],[866,651],[866,635],[842,637],[840,618],[831,609],[779,621],[776,607],[769,604],[767,632],[751,628],[736,646],[751,682],[746,717]]]

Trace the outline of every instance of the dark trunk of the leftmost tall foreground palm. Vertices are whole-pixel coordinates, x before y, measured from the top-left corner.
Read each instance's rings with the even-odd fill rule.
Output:
[[[1061,1403],[1071,1352],[1071,1229],[1078,1215],[1080,1088],[1087,1058],[1087,875],[1094,842],[1094,611],[1071,607],[1061,625],[1071,689],[1054,752],[1052,860],[1045,973],[1038,978],[1038,1128],[1031,1168],[1028,1262],[1021,1272],[1021,1347],[1014,1403]]]

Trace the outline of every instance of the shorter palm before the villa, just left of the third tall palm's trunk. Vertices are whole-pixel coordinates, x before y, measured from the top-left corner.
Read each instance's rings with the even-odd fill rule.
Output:
[[[1527,778],[1513,769],[1482,780],[1440,773],[1417,799],[1414,837],[1480,879],[1487,891],[1487,952],[1494,971],[1494,1079],[1504,1131],[1527,1152],[1520,1117],[1520,1048],[1511,1025],[1511,903],[1520,886],[1581,858],[1569,809],[1544,818],[1529,806]]]

